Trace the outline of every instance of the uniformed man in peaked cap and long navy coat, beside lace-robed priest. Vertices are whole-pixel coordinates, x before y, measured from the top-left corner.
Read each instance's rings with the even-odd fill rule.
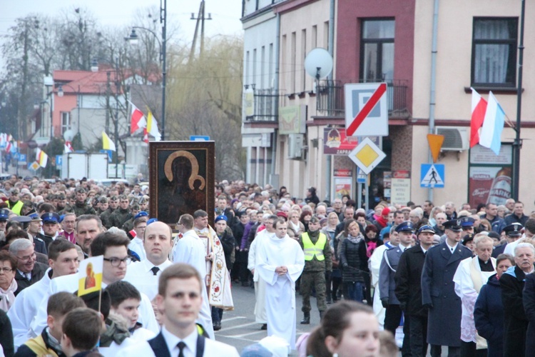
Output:
[[[459,263],[472,257],[472,251],[459,244],[461,221],[444,222],[446,240],[429,248],[422,271],[422,304],[429,308],[427,343],[431,356],[441,356],[448,346],[448,356],[461,353],[461,299],[455,293],[453,276]]]

